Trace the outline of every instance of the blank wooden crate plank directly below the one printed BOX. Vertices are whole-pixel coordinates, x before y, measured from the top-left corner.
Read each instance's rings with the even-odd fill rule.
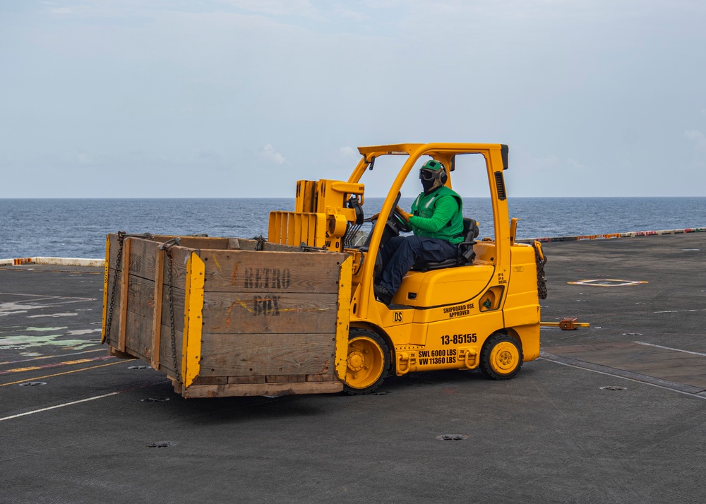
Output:
[[[203,334],[201,376],[333,373],[335,337],[326,334]]]

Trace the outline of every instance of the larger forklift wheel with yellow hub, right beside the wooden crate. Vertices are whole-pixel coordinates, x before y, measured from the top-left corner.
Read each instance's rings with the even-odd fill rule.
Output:
[[[352,329],[343,390],[349,395],[369,394],[383,383],[389,368],[390,350],[385,340],[375,332]]]

